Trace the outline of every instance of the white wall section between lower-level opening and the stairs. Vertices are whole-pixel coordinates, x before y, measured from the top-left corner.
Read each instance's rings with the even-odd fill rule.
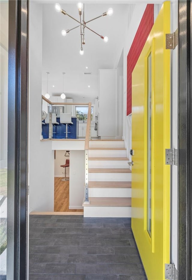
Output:
[[[83,209],[85,151],[70,150],[69,209]]]

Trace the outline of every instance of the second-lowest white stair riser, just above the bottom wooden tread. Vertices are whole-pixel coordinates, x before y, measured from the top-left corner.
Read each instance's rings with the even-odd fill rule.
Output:
[[[90,197],[131,197],[131,188],[89,188]]]

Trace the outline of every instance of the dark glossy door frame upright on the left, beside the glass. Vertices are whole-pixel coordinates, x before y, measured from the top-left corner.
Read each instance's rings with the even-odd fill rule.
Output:
[[[27,279],[28,6],[9,1],[7,280]]]

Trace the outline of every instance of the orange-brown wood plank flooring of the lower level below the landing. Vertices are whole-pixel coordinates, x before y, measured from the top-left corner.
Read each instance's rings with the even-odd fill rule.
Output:
[[[55,177],[54,211],[55,212],[83,212],[83,209],[69,209],[69,181],[61,181]]]

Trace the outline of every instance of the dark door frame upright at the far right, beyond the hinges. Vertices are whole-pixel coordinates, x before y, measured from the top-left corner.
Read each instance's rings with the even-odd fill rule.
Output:
[[[179,1],[178,49],[178,277],[191,279],[192,3]]]

